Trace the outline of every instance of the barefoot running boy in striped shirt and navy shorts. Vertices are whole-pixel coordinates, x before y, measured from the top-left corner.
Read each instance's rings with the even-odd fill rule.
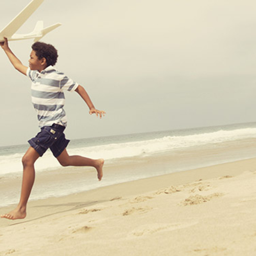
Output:
[[[13,54],[8,46],[8,40],[0,42],[1,47],[16,70],[27,75],[31,81],[32,103],[37,112],[38,124],[41,131],[28,142],[30,147],[23,156],[23,181],[20,201],[17,207],[2,215],[1,218],[10,220],[24,219],[26,207],[35,179],[35,161],[50,148],[53,155],[62,166],[93,166],[97,170],[98,179],[102,178],[103,159],[90,159],[81,156],[69,156],[66,147],[69,140],[63,131],[67,126],[66,113],[63,110],[65,97],[63,90],[77,92],[87,103],[90,114],[104,116],[104,111],[96,110],[86,90],[78,83],[69,79],[63,73],[53,68],[57,62],[57,50],[44,42],[35,42],[29,59],[29,68]]]

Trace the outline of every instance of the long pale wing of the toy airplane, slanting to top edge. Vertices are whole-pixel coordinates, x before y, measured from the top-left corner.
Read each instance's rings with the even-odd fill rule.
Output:
[[[10,38],[41,5],[44,0],[32,0],[1,32],[0,40]]]

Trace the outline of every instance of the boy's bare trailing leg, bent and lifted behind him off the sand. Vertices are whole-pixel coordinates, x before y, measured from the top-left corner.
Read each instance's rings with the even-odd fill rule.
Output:
[[[104,159],[91,159],[81,156],[69,156],[66,148],[57,157],[57,160],[62,166],[93,166],[96,168],[98,173],[98,179],[101,180],[103,176],[102,167]]]

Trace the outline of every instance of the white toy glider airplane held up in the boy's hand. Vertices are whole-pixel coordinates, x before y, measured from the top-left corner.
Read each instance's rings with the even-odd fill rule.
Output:
[[[4,41],[4,37],[11,40],[23,40],[35,38],[34,41],[38,41],[44,35],[59,27],[61,24],[56,23],[50,27],[44,28],[44,23],[39,21],[36,23],[35,29],[24,35],[14,34],[32,15],[32,13],[39,7],[44,0],[32,0],[3,30],[0,31],[0,42]]]

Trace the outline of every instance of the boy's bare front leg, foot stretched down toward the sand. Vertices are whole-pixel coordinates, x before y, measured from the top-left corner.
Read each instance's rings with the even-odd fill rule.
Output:
[[[24,219],[26,217],[27,202],[35,180],[34,163],[38,157],[39,154],[34,150],[34,148],[29,147],[28,151],[22,159],[23,180],[19,203],[13,211],[9,212],[9,214],[1,215],[1,218],[16,220]]]

